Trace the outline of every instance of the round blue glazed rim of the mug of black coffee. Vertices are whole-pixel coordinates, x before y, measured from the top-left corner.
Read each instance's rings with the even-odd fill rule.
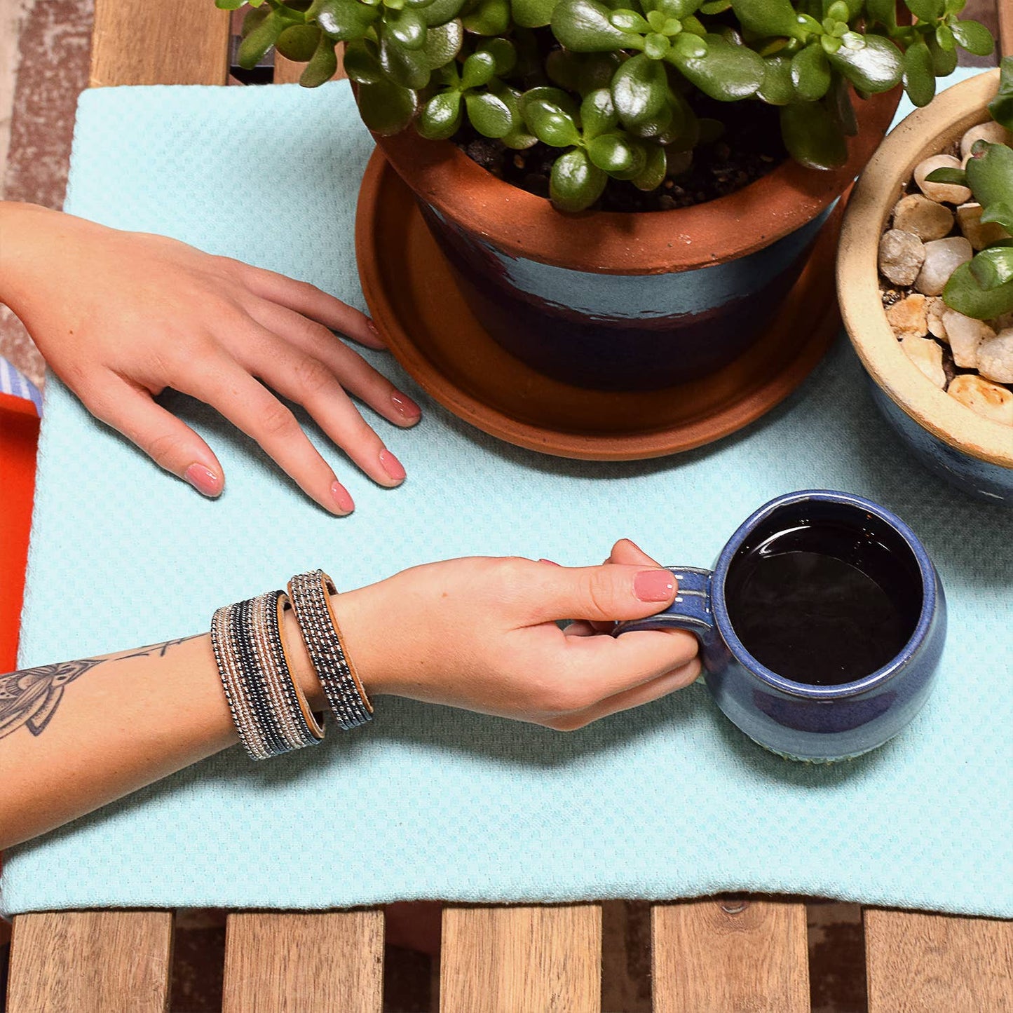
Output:
[[[810,686],[807,683],[792,682],[790,679],[785,679],[776,672],[772,672],[766,666],[761,665],[746,649],[746,645],[742,640],[738,639],[732,628],[731,619],[724,602],[724,581],[728,575],[731,560],[753,529],[784,506],[812,501],[841,503],[842,505],[853,506],[865,513],[872,514],[888,524],[911,549],[918,563],[919,573],[922,578],[922,610],[919,613],[918,623],[911,638],[904,645],[900,653],[889,665],[873,672],[871,675],[857,679],[852,683],[842,683],[837,686]],[[770,502],[764,503],[763,506],[738,526],[735,533],[721,550],[717,564],[714,567],[711,608],[718,632],[725,644],[727,644],[728,650],[755,678],[790,696],[804,697],[806,700],[838,700],[842,697],[859,696],[869,690],[878,688],[907,665],[911,656],[925,640],[929,626],[935,615],[937,607],[936,579],[936,569],[929,558],[928,552],[925,550],[925,546],[922,545],[914,531],[895,514],[892,514],[884,506],[880,506],[878,503],[872,502],[870,499],[866,499],[864,496],[855,495],[851,492],[837,492],[832,489],[802,489],[798,492],[788,492],[775,499],[771,499]]]

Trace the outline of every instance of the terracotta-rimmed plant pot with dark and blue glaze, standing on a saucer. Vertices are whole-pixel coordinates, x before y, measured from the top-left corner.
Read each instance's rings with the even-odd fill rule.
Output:
[[[789,160],[728,197],[641,214],[564,215],[450,142],[377,140],[500,344],[564,383],[652,390],[712,373],[756,340],[899,98],[856,101],[860,130],[839,170]]]

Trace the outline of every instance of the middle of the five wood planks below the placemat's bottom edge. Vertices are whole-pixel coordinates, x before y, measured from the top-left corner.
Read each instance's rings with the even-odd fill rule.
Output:
[[[441,1013],[600,1013],[602,909],[446,907]]]

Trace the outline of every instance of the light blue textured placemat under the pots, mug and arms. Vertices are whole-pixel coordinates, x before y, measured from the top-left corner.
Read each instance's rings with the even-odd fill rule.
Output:
[[[81,100],[68,209],[362,306],[352,228],[369,151],[343,84],[101,89]],[[383,699],[371,726],[305,755],[254,766],[232,750],[14,850],[8,912],[746,888],[1013,916],[1013,514],[910,461],[843,342],[761,422],[667,461],[539,457],[423,399],[418,428],[380,423],[410,473],[384,491],[315,434],[358,503],[348,520],[202,406],[171,403],[221,457],[219,502],[51,383],[24,665],[207,629],[218,605],[315,565],[356,586],[471,553],[583,564],[620,536],[706,565],[758,504],[824,486],[897,511],[935,557],[952,610],[939,688],[898,739],[835,767],[764,753],[703,686],[571,734]]]

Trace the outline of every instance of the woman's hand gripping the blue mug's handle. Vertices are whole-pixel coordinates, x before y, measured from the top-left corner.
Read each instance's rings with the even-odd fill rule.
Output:
[[[368,692],[570,730],[700,674],[690,633],[613,637],[592,625],[653,615],[676,590],[672,573],[623,540],[602,566],[455,559],[339,595],[334,605]],[[560,630],[562,619],[578,622]]]

